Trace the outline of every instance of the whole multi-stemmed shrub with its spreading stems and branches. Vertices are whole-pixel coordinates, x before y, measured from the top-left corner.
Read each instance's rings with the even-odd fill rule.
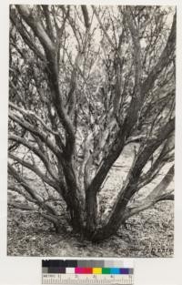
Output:
[[[171,167],[157,187],[150,194],[148,194],[147,198],[140,201],[138,205],[134,204],[133,206],[131,205],[131,207],[128,206],[129,201],[131,201],[136,192],[140,188],[147,185],[147,183],[151,182],[151,180],[156,177],[157,172],[161,169],[161,166],[164,166],[165,162],[170,160],[170,155],[168,155],[168,153],[170,153],[172,148],[167,150],[167,144],[169,144],[169,137],[171,137],[171,134],[175,128],[175,118],[172,116],[174,104],[172,103],[171,105],[172,107],[169,116],[167,115],[167,120],[161,120],[161,125],[155,125],[157,124],[155,114],[154,117],[151,115],[153,122],[150,123],[150,120],[146,114],[147,110],[144,111],[144,109],[147,104],[149,104],[148,107],[153,107],[153,109],[155,109],[153,104],[158,107],[157,102],[153,102],[151,100],[151,102],[148,103],[147,99],[149,96],[153,97],[153,87],[155,89],[155,94],[157,88],[156,83],[158,78],[160,78],[159,76],[161,76],[162,71],[165,71],[164,73],[166,74],[168,72],[168,68],[169,71],[172,70],[171,72],[173,76],[174,51],[176,44],[176,15],[174,15],[173,24],[167,38],[166,46],[161,52],[161,55],[157,57],[157,62],[155,62],[151,69],[148,69],[149,71],[147,76],[144,76],[144,71],[147,69],[144,68],[145,66],[142,66],[144,47],[140,45],[141,35],[136,26],[136,21],[134,20],[135,14],[132,12],[132,8],[128,6],[125,7],[124,11],[119,10],[120,8],[118,7],[119,13],[122,12],[122,15],[125,14],[125,24],[123,25],[126,25],[123,27],[125,33],[122,32],[122,35],[119,36],[119,41],[121,41],[121,44],[123,43],[125,46],[126,39],[123,38],[123,36],[124,34],[130,35],[128,46],[130,46],[130,48],[132,46],[133,49],[131,52],[129,48],[129,51],[132,54],[130,57],[132,57],[132,59],[128,57],[128,60],[132,60],[132,67],[131,70],[128,70],[125,84],[127,85],[131,79],[131,86],[134,85],[134,87],[129,91],[123,88],[122,92],[122,85],[124,84],[121,82],[121,78],[124,80],[126,75],[122,73],[125,61],[124,57],[121,56],[121,46],[120,50],[118,46],[115,46],[112,38],[107,33],[105,25],[102,24],[102,20],[100,19],[98,12],[96,12],[96,8],[92,6],[93,15],[96,16],[97,22],[102,30],[102,34],[104,37],[106,37],[108,45],[111,47],[112,51],[115,51],[115,58],[113,59],[113,68],[115,70],[113,70],[113,76],[116,77],[116,82],[115,87],[113,82],[107,82],[107,91],[104,87],[100,87],[101,90],[104,90],[103,97],[105,98],[102,98],[102,100],[106,99],[106,97],[110,97],[109,103],[111,105],[109,109],[108,107],[105,107],[105,103],[102,102],[102,107],[105,108],[104,118],[106,118],[106,121],[104,127],[100,126],[104,129],[101,129],[101,133],[99,135],[101,137],[105,137],[105,139],[103,138],[102,142],[98,139],[97,145],[92,143],[92,149],[86,149],[86,146],[85,148],[83,147],[85,157],[82,158],[82,161],[80,162],[78,161],[78,156],[76,153],[76,135],[79,128],[81,129],[82,127],[81,124],[83,117],[81,119],[77,118],[77,108],[82,103],[76,102],[76,99],[78,100],[81,98],[81,96],[80,98],[76,98],[78,97],[76,91],[77,93],[81,92],[80,88],[77,88],[78,75],[80,75],[85,81],[85,84],[87,84],[85,78],[86,75],[83,75],[83,73],[87,59],[87,50],[89,50],[92,42],[92,26],[90,24],[91,18],[89,18],[89,13],[86,6],[82,5],[81,11],[83,13],[86,31],[82,40],[79,42],[79,36],[83,33],[83,30],[82,33],[78,33],[77,36],[77,30],[73,23],[73,18],[69,14],[69,8],[67,8],[67,11],[64,5],[59,6],[59,8],[61,9],[61,15],[63,16],[62,21],[60,21],[60,23],[63,22],[61,27],[56,25],[56,15],[49,15],[47,6],[44,6],[43,9],[43,13],[45,13],[45,24],[39,20],[38,13],[37,15],[34,14],[34,10],[31,10],[25,5],[16,5],[15,10],[11,11],[10,13],[12,23],[15,25],[19,35],[25,41],[25,45],[27,45],[30,51],[35,54],[35,58],[38,62],[37,68],[42,68],[42,71],[45,73],[46,86],[49,92],[48,100],[56,115],[51,114],[49,104],[45,105],[45,97],[41,97],[42,93],[40,91],[42,91],[42,83],[40,83],[40,90],[38,90],[39,92],[37,93],[40,93],[40,102],[43,108],[42,111],[45,112],[45,118],[49,122],[48,127],[45,123],[46,120],[44,122],[43,119],[41,117],[37,117],[34,112],[29,112],[26,108],[23,109],[22,107],[17,107],[15,104],[10,103],[10,107],[13,109],[13,111],[11,110],[9,112],[9,118],[19,127],[22,127],[25,129],[25,131],[29,132],[31,137],[35,139],[35,145],[31,144],[28,139],[25,139],[25,137],[18,137],[17,135],[11,135],[9,136],[9,139],[25,146],[25,148],[28,148],[28,151],[32,151],[33,155],[40,158],[41,162],[44,164],[46,174],[43,173],[41,169],[37,168],[34,163],[32,164],[24,161],[24,159],[17,158],[15,157],[15,154],[10,154],[9,157],[14,159],[23,167],[31,169],[38,176],[38,178],[43,179],[43,181],[50,187],[55,188],[56,194],[59,194],[60,197],[66,202],[67,212],[69,213],[68,222],[71,224],[72,228],[76,232],[79,232],[81,235],[85,236],[86,239],[96,241],[106,239],[115,234],[116,230],[119,229],[120,225],[124,223],[126,219],[136,214],[140,210],[153,206],[159,200],[173,198],[171,193],[164,193],[164,189],[167,188],[173,177],[174,167]],[[54,14],[54,11],[56,10],[53,9],[51,13]],[[53,26],[54,21],[55,26]],[[24,22],[26,31],[24,30],[25,26],[22,25]],[[64,76],[64,74],[61,74],[61,72],[64,73],[62,68],[64,67],[64,60],[61,62],[60,54],[61,52],[65,54],[65,46],[63,46],[65,39],[63,36],[66,36],[66,22],[69,23],[71,29],[74,31],[76,42],[78,42],[78,47],[76,46],[77,53],[75,56],[75,62],[74,64],[71,64],[73,69],[68,80],[69,90],[65,95],[65,87],[62,87],[60,83],[60,77]],[[30,33],[29,36],[28,33]],[[32,35],[38,39],[38,43],[34,43],[32,41]],[[102,42],[104,42],[104,40]],[[70,60],[69,55],[67,56]],[[27,64],[26,61],[27,58],[25,58],[25,64]],[[80,66],[82,68],[80,68]],[[126,68],[128,66],[124,67]],[[132,78],[130,78],[130,76]],[[170,80],[172,80],[172,76],[170,76]],[[163,81],[166,81],[166,76],[164,76]],[[95,82],[93,85],[96,85]],[[167,86],[165,87],[167,89]],[[88,90],[89,89],[90,88],[88,86]],[[113,90],[115,92],[115,95],[113,96],[114,98],[111,97],[111,89],[112,92]],[[167,91],[166,89],[165,92]],[[160,89],[158,92],[160,92]],[[171,96],[171,94],[174,93],[174,90],[172,89],[172,91],[169,90],[168,92],[169,93],[165,97],[166,100],[169,95]],[[124,98],[126,99],[126,102],[123,101]],[[86,101],[88,100],[87,97],[85,99]],[[93,106],[96,107],[95,105],[97,103],[93,103],[91,101],[92,98],[90,98],[88,105],[93,104]],[[165,103],[164,107],[167,106],[168,102],[169,101]],[[90,111],[89,106],[88,109]],[[118,112],[119,109],[120,113]],[[158,114],[162,114],[163,111],[164,109],[162,107]],[[118,194],[114,204],[112,205],[110,214],[106,217],[106,219],[103,220],[102,217],[100,219],[100,213],[97,205],[98,193],[100,188],[102,188],[107,174],[112,168],[116,159],[122,154],[125,146],[129,143],[129,140],[133,136],[136,136],[136,130],[138,127],[137,124],[139,124],[139,120],[142,118],[142,112],[146,116],[145,118],[147,118],[147,124],[149,125],[150,132],[145,130],[144,134],[142,134],[144,135],[143,140],[141,141],[138,150],[136,151],[135,149],[135,158],[133,159],[133,164],[128,171],[124,184],[118,189]],[[89,117],[90,113],[87,115],[84,110],[83,116]],[[101,117],[96,117],[96,120],[99,120],[100,118]],[[149,118],[151,119],[151,117]],[[36,124],[37,120],[38,124]],[[110,123],[112,123],[112,127],[108,124],[108,120],[110,120]],[[114,127],[113,122],[115,125]],[[93,126],[91,127],[91,125],[93,125],[92,122],[90,123],[89,131],[92,132],[92,136],[94,137],[93,139],[96,140],[98,134],[96,133],[96,129],[93,129]],[[102,125],[102,122],[100,125]],[[85,128],[87,128],[87,126],[85,126]],[[18,132],[17,134],[19,135]],[[53,137],[52,140],[50,138],[51,136]],[[45,153],[45,148],[49,149],[48,151],[56,160],[56,167],[54,166],[54,163],[49,161],[50,156],[49,153],[48,155]],[[89,150],[91,150],[90,153]],[[94,160],[96,157],[99,157],[97,155],[99,151],[102,153],[102,155],[101,158],[99,158],[100,160],[98,159],[98,166],[96,166],[94,161],[93,165],[90,165],[90,167],[95,168],[95,175],[93,176],[90,174],[90,177],[88,178],[87,176],[89,176],[89,171],[86,170],[86,164],[89,166],[90,161]],[[147,166],[148,161],[152,158],[155,152],[157,152],[158,156],[156,156],[157,158],[154,164],[147,171],[147,174],[143,173],[143,169]],[[89,156],[91,158],[90,160]],[[80,177],[78,173],[80,169],[82,170],[83,166],[85,171]],[[26,183],[25,179],[17,173],[16,169],[12,167],[12,165],[9,166],[9,173],[15,178],[16,181],[18,181],[18,183],[21,184],[21,186],[25,188],[30,195],[30,198],[35,201],[35,205],[46,211],[46,214],[41,214],[54,223],[56,231],[61,231],[61,221],[59,220],[58,215],[56,215],[56,209],[53,209],[52,206],[46,204],[44,198],[40,198],[38,195],[36,195],[31,185]]]

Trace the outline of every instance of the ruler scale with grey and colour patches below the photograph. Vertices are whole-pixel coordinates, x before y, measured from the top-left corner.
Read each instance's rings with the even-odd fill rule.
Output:
[[[42,284],[133,285],[133,262],[124,260],[42,260]]]

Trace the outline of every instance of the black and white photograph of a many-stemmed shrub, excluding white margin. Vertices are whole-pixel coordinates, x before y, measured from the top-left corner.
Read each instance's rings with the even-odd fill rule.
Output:
[[[9,5],[7,255],[174,255],[175,5]]]

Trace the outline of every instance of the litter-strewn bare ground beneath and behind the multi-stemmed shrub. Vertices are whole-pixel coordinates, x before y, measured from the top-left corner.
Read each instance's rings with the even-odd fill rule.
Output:
[[[99,193],[100,211],[106,214],[116,198],[132,163],[131,148],[111,168],[104,188]],[[141,189],[137,198],[143,198],[155,187],[157,180]],[[40,188],[37,180],[32,181]],[[173,188],[174,185],[170,186]],[[56,234],[51,224],[38,213],[9,209],[7,219],[7,254],[13,256],[72,256],[72,257],[172,257],[174,239],[174,204],[157,203],[153,209],[127,220],[116,236],[93,244],[81,239],[64,222],[63,232]]]

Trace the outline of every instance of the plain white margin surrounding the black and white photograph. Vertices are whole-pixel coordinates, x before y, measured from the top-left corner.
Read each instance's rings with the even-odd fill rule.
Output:
[[[176,198],[175,257],[134,259],[135,285],[181,285],[182,279],[182,1],[9,1],[0,2],[0,284],[41,284],[41,260],[35,257],[6,256],[6,180],[7,180],[7,102],[9,4],[93,4],[93,5],[177,5],[177,121],[176,121]],[[46,259],[48,259],[46,257]],[[53,259],[53,257],[51,258]],[[57,259],[57,257],[56,257]],[[66,259],[66,258],[65,258]],[[81,258],[80,258],[81,259]],[[129,260],[129,259],[128,259]]]

